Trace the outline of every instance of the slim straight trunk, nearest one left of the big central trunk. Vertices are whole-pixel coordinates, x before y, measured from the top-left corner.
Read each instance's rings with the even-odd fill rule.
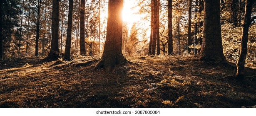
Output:
[[[86,56],[85,48],[85,0],[81,0],[80,9],[80,55]]]

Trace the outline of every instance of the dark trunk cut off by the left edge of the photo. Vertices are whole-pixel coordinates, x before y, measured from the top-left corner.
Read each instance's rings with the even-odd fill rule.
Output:
[[[3,0],[0,0],[0,59],[2,59],[3,53],[4,53],[4,47],[3,47],[3,34],[2,34],[2,15],[3,15]]]

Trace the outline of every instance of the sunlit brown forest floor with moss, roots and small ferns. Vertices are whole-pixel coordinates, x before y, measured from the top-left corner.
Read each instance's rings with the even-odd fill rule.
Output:
[[[230,65],[194,57],[127,57],[111,73],[99,59],[0,61],[0,107],[251,107],[256,78],[225,78]],[[246,76],[256,69],[246,68]]]

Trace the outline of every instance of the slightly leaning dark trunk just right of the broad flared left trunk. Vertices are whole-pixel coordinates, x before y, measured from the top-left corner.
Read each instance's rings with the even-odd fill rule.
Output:
[[[70,49],[71,49],[71,35],[72,35],[73,2],[74,0],[69,0],[68,19],[67,19],[67,40],[66,40],[66,46],[65,46],[64,60],[72,60],[72,57],[70,56]]]

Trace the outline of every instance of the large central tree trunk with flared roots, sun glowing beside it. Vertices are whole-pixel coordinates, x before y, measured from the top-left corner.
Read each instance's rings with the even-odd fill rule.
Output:
[[[123,0],[109,0],[104,51],[95,69],[104,68],[110,72],[115,65],[125,61],[122,54],[122,9]]]

